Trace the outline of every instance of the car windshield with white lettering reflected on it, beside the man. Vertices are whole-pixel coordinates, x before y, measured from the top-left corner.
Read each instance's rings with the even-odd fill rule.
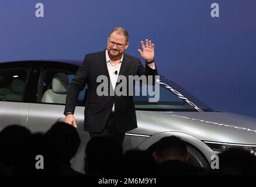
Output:
[[[156,86],[159,86],[159,101],[148,102],[154,98],[152,94],[143,95],[143,84],[134,86],[134,104],[136,110],[154,110],[154,111],[184,111],[184,112],[214,112],[205,103],[199,101],[191,93],[181,86],[175,84],[167,78],[160,76],[156,85],[148,85],[148,90],[157,92]],[[155,93],[156,94],[156,93]]]

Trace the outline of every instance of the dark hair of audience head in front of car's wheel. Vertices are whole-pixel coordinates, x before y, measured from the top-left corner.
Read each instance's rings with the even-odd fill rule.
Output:
[[[186,143],[176,136],[163,137],[157,142],[155,153],[162,156],[169,154],[184,157],[188,152]]]

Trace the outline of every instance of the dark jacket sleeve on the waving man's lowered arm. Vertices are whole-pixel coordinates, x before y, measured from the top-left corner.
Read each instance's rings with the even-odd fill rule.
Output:
[[[79,93],[88,82],[88,71],[88,57],[85,56],[83,63],[78,68],[77,74],[72,79],[70,89],[68,89],[64,113],[75,112],[75,105],[77,104]]]

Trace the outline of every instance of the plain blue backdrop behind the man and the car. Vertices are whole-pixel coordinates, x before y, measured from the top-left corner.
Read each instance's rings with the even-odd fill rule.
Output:
[[[256,117],[255,10],[255,0],[0,0],[0,62],[83,60],[122,26],[126,53],[140,57],[140,40],[151,39],[161,75],[213,109]]]

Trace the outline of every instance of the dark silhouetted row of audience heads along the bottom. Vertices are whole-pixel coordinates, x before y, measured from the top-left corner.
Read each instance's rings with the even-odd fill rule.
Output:
[[[0,131],[0,175],[84,175],[70,163],[80,143],[77,129],[64,122],[54,123],[44,134],[12,124]],[[188,164],[186,143],[175,136],[161,138],[153,154],[123,154],[122,145],[112,137],[98,136],[87,143],[84,170],[86,175],[110,176],[256,174],[256,157],[248,150],[230,148],[218,156],[219,169],[206,170]]]

